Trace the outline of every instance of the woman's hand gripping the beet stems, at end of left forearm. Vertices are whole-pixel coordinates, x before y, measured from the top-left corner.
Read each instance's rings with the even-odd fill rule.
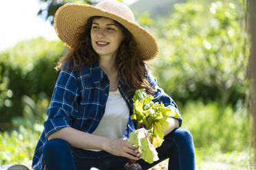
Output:
[[[123,156],[131,160],[139,160],[141,158],[138,148],[128,143],[127,138],[109,138],[105,144],[104,150],[115,156]]]

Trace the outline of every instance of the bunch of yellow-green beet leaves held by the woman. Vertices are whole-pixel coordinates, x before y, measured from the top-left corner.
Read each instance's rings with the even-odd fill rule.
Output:
[[[136,120],[137,130],[131,132],[128,142],[138,147],[142,159],[153,163],[158,160],[156,147],[162,145],[164,130],[169,127],[167,118],[180,117],[178,112],[164,104],[151,101],[153,96],[147,95],[145,89],[136,90],[134,95],[134,113],[131,119]]]

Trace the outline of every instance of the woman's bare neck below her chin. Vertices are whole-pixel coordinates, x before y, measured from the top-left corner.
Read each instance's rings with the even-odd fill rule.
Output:
[[[101,69],[103,69],[107,75],[117,72],[116,56],[100,56],[99,64]]]

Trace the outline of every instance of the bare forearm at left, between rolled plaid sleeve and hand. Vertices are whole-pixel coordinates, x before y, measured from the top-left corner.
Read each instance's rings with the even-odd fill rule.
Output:
[[[54,132],[48,137],[48,140],[52,138],[62,138],[67,141],[67,143],[70,143],[72,147],[100,150],[105,150],[107,142],[110,140],[110,138],[82,132],[73,127],[64,127]]]

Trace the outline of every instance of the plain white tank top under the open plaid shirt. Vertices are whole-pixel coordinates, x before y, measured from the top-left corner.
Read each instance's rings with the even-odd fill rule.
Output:
[[[105,114],[92,134],[107,138],[121,138],[129,119],[129,108],[119,90],[109,91]],[[100,151],[98,149],[88,149]]]

